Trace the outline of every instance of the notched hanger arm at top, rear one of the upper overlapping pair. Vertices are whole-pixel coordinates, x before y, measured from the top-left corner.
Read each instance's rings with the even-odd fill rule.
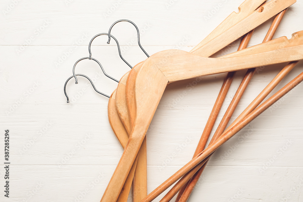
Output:
[[[205,45],[228,28],[232,27],[236,23],[240,22],[242,19],[246,18],[249,14],[254,12],[265,0],[246,0],[239,7],[239,12],[232,12],[224,21],[218,25],[207,37],[205,37],[198,45],[196,45],[192,50],[195,51],[199,47]]]

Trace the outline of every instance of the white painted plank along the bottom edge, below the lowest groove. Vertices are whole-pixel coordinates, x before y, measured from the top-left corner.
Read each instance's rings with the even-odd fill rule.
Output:
[[[301,201],[303,173],[298,167],[209,166],[193,191],[190,201]],[[10,181],[13,195],[9,202],[20,201],[98,201],[113,166],[14,166]],[[159,172],[148,167],[148,192],[178,167]],[[157,176],[157,177],[154,177]],[[166,193],[166,192],[165,192]],[[160,200],[161,194],[155,201]],[[131,201],[131,194],[130,200]]]

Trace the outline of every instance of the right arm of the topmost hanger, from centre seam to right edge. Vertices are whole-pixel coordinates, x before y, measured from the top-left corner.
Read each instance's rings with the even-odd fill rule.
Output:
[[[296,45],[233,58],[204,58],[180,50],[166,50],[151,56],[168,81],[237,71],[303,59],[303,45]],[[163,63],[165,57],[167,61]]]

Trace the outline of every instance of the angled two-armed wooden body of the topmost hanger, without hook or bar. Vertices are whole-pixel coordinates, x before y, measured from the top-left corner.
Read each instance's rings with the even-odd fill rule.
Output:
[[[253,68],[286,61],[301,60],[303,59],[302,52],[303,45],[297,45],[235,58],[204,58],[180,50],[166,50],[152,55],[143,63],[138,72],[135,84],[137,105],[135,124],[128,144],[105,190],[103,198],[112,198],[117,189],[122,188],[145,137],[151,118],[158,106],[158,102],[169,81],[236,71],[244,69],[243,65],[245,65],[245,68]],[[255,58],[258,58],[258,61],[254,61]],[[244,64],[243,61],[245,61]],[[206,66],[206,68],[202,69],[201,66]]]

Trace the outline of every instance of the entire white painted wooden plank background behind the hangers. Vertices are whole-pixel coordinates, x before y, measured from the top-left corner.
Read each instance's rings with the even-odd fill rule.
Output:
[[[75,61],[88,57],[88,43],[94,35],[107,32],[113,22],[125,18],[140,28],[141,44],[148,54],[171,48],[189,51],[237,11],[242,1],[2,0],[0,139],[4,139],[4,130],[10,130],[11,168],[8,199],[3,196],[1,166],[0,201],[101,199],[123,151],[108,123],[108,98],[95,93],[85,78],[79,78],[77,85],[74,80],[68,83],[71,103],[66,103],[63,93]],[[206,20],[219,3],[219,10]],[[303,30],[302,19],[299,0],[287,11],[275,38],[290,38]],[[271,20],[256,29],[249,46],[261,43]],[[112,30],[132,65],[145,59],[135,33],[125,22]],[[120,79],[129,67],[118,58],[115,42],[108,45],[106,41],[106,36],[95,39],[92,57],[108,75]],[[235,51],[238,44],[236,41],[217,56]],[[283,65],[270,66],[255,74],[232,121],[281,68]],[[274,91],[302,69],[300,62]],[[92,61],[80,62],[76,73],[92,78],[106,94],[117,86]],[[236,74],[212,134],[244,74]],[[186,86],[193,80],[168,86],[147,134],[148,192],[191,159],[224,77],[207,76],[192,88]],[[187,95],[180,98],[184,90]],[[303,201],[302,93],[300,84],[218,149],[189,201]]]

